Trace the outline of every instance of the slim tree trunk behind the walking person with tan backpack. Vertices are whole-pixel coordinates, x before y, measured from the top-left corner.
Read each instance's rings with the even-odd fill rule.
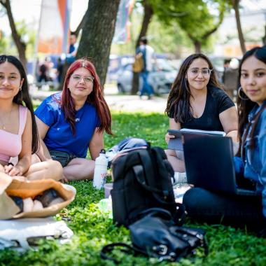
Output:
[[[139,40],[142,36],[146,36],[148,31],[148,25],[151,22],[151,18],[153,16],[153,8],[148,3],[147,0],[143,1],[144,5],[144,20],[142,22],[141,31],[139,33],[139,38],[137,39],[136,48],[139,46]],[[135,95],[137,94],[139,90],[139,73],[133,72],[133,78],[132,78],[132,90],[131,94]]]

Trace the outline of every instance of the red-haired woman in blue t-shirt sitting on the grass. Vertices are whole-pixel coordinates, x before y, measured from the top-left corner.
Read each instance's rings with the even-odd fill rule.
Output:
[[[111,132],[111,113],[90,60],[78,59],[66,73],[62,93],[35,111],[42,149],[36,160],[58,160],[67,180],[92,179],[94,160]],[[87,160],[87,149],[91,160]]]

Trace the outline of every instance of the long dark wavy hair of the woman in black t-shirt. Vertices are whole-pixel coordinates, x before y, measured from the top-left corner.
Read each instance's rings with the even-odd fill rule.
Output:
[[[214,66],[211,64],[211,61],[206,55],[203,55],[202,53],[196,53],[187,57],[181,64],[179,73],[171,87],[171,91],[167,99],[167,108],[165,109],[165,113],[167,113],[167,116],[169,116],[170,111],[172,111],[174,108],[174,120],[176,123],[186,123],[188,120],[193,118],[193,113],[190,106],[191,92],[186,75],[190,64],[192,64],[192,62],[197,58],[204,59],[208,63],[209,69],[213,70],[211,71],[208,85],[219,87]]]

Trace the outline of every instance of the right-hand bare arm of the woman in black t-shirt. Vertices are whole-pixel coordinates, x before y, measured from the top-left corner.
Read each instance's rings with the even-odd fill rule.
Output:
[[[223,131],[227,137],[232,137],[234,142],[239,142],[238,134],[238,116],[235,106],[226,109],[219,114],[219,119],[223,125]]]

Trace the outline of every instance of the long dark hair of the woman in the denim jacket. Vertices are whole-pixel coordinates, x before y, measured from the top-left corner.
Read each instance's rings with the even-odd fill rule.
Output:
[[[248,59],[248,57],[251,57],[251,56],[254,56],[258,60],[260,60],[261,62],[266,64],[266,46],[255,47],[255,48],[253,48],[253,49],[251,49],[251,50],[249,50],[248,52],[245,53],[245,55],[241,59],[240,65],[239,65],[239,85],[240,85],[242,64],[245,62],[246,59]],[[240,94],[242,99],[239,97],[239,94]],[[250,134],[250,137],[251,137],[251,146],[250,146],[250,148],[253,149],[253,146],[254,146],[253,135],[254,135],[254,132],[255,132],[255,127],[256,127],[256,125],[258,123],[258,118],[260,118],[260,114],[262,113],[262,111],[266,107],[266,104],[263,104],[263,106],[260,109],[260,111],[253,118],[253,121],[251,121],[251,123],[249,123],[248,122],[248,113],[250,113],[251,110],[253,109],[253,107],[256,106],[257,104],[255,102],[252,102],[251,99],[248,99],[248,97],[246,97],[246,94],[244,94],[243,90],[240,90],[239,94],[237,95],[237,112],[238,112],[238,117],[239,117],[239,132],[238,132],[238,134],[239,134],[239,141],[240,141],[238,155],[240,155],[241,146],[246,141],[246,137],[247,137],[247,134],[248,134],[248,127],[251,126],[251,123],[253,124],[253,129],[251,130],[251,134]],[[246,134],[245,134],[245,136],[243,136],[244,130],[245,130],[246,127],[247,127]],[[243,136],[243,139],[241,138],[241,136]]]

